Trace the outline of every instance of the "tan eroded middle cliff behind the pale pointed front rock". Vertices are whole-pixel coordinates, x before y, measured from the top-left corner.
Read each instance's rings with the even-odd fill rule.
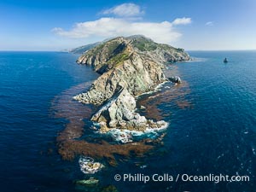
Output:
[[[74,98],[79,102],[102,104],[113,96],[119,83],[126,84],[132,96],[153,90],[157,84],[166,81],[160,65],[131,53],[129,59],[102,74],[92,84],[90,90]]]

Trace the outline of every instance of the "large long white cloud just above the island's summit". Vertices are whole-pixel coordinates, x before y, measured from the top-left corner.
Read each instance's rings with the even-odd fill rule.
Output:
[[[104,17],[99,20],[77,23],[70,31],[55,27],[52,32],[67,38],[112,38],[142,34],[159,43],[172,43],[182,36],[173,29],[172,23],[135,22],[122,18]]]

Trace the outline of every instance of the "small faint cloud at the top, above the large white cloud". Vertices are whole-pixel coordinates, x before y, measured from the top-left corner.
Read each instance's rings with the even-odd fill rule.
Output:
[[[115,6],[111,9],[107,9],[102,11],[103,15],[117,15],[121,17],[131,17],[143,15],[143,10],[141,10],[140,6],[134,3],[123,3],[118,6]]]

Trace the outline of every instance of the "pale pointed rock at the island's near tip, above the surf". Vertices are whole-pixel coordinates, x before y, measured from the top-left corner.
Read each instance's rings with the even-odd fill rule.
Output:
[[[125,87],[120,90],[92,116],[91,120],[99,122],[101,131],[108,128],[120,128],[136,131],[145,131],[147,128],[160,128],[165,122],[148,120],[136,113],[136,100]]]

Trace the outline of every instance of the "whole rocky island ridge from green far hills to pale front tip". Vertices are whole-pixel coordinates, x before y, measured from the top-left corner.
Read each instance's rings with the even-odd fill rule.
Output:
[[[101,132],[112,128],[160,129],[166,122],[146,119],[137,113],[135,97],[168,81],[162,71],[166,63],[189,59],[183,49],[157,44],[143,36],[113,38],[79,57],[79,64],[89,65],[102,75],[91,84],[90,90],[73,99],[101,106],[91,118],[100,125]]]

